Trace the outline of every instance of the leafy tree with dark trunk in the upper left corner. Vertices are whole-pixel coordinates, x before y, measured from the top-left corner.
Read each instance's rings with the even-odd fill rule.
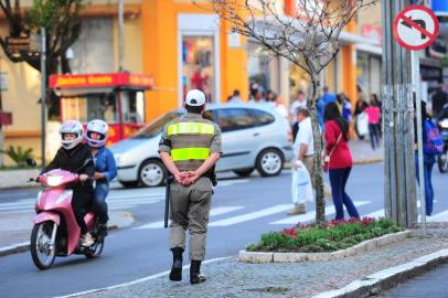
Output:
[[[46,73],[51,75],[58,73],[60,65],[62,73],[71,73],[65,52],[79,36],[82,2],[83,0],[33,0],[31,8],[24,10],[20,0],[0,0],[0,9],[8,21],[9,36],[29,36],[32,32],[39,33],[42,26],[45,28]],[[0,36],[0,45],[10,61],[26,62],[41,71],[39,55],[9,52],[4,36]],[[50,92],[47,94],[49,113],[57,115],[55,96]]]

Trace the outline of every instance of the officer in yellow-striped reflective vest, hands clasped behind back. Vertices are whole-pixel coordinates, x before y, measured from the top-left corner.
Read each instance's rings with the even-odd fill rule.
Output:
[[[190,233],[190,283],[205,281],[201,262],[212,201],[211,177],[221,156],[220,127],[204,118],[205,95],[199,89],[186,94],[186,114],[168,123],[160,139],[160,157],[174,177],[170,189],[170,249],[173,255],[170,279],[182,280],[185,231]]]

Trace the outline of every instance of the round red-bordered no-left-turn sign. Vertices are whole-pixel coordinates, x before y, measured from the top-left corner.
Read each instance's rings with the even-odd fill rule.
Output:
[[[402,10],[393,23],[394,39],[404,47],[418,51],[429,46],[439,33],[436,14],[424,6]]]

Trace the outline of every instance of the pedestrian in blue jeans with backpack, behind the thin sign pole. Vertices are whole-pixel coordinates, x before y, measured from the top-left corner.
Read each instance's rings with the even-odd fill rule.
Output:
[[[434,188],[433,188],[433,168],[436,163],[436,152],[427,150],[426,147],[430,146],[434,140],[431,140],[430,130],[434,129],[435,125],[431,125],[431,117],[427,113],[426,103],[422,102],[422,134],[423,134],[423,172],[425,180],[425,203],[426,203],[426,215],[433,214],[433,202],[434,202]],[[437,129],[437,127],[436,127]],[[414,117],[414,140],[415,140],[415,174],[417,182],[419,183],[418,175],[418,151],[417,151],[417,119]],[[441,142],[441,140],[440,140]],[[441,143],[442,146],[442,143]]]

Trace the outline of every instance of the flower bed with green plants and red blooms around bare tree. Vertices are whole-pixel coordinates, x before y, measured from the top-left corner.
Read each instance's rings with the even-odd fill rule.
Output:
[[[262,235],[260,242],[246,247],[247,252],[319,253],[352,247],[363,241],[396,233],[403,228],[386,219],[364,217],[331,221],[327,228],[297,224],[280,232]]]

